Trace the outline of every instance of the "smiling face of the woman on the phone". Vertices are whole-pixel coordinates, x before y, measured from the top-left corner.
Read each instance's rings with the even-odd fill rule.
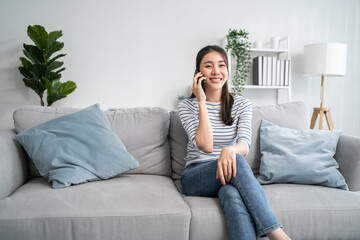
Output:
[[[222,89],[228,78],[225,60],[216,51],[206,54],[200,62],[200,71],[206,77],[206,89]]]

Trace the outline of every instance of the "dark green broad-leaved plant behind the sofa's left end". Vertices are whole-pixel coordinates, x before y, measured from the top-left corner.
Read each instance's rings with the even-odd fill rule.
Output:
[[[20,57],[22,66],[19,67],[19,71],[24,76],[25,85],[40,96],[41,106],[44,106],[43,96],[47,90],[47,105],[51,106],[55,101],[65,98],[76,89],[73,81],[60,82],[60,72],[65,68],[60,68],[64,63],[56,60],[66,54],[50,58],[64,47],[64,43],[56,41],[63,35],[62,31],[47,33],[44,27],[34,25],[28,26],[27,35],[35,46],[24,43],[23,53],[27,58]],[[60,69],[55,71],[58,68]]]

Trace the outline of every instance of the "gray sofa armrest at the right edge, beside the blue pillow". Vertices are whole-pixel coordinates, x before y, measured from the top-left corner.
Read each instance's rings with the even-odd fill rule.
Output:
[[[360,191],[360,138],[340,135],[334,158],[350,191]]]

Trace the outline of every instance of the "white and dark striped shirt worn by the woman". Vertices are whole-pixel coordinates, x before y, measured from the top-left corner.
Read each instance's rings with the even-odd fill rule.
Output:
[[[181,123],[188,134],[186,165],[192,163],[213,161],[220,157],[221,149],[243,142],[250,150],[252,106],[250,101],[243,96],[234,96],[231,116],[234,122],[231,126],[225,125],[221,120],[221,102],[206,101],[211,127],[213,130],[213,152],[205,153],[196,147],[195,135],[199,126],[199,105],[197,98],[187,98],[178,105]],[[247,154],[246,153],[246,154]]]

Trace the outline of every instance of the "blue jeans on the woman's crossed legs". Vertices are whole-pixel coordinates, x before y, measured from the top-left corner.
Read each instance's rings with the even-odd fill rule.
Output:
[[[236,177],[225,186],[216,179],[216,170],[217,161],[191,164],[181,185],[187,196],[219,197],[230,240],[257,239],[282,227],[243,156],[236,155]]]

